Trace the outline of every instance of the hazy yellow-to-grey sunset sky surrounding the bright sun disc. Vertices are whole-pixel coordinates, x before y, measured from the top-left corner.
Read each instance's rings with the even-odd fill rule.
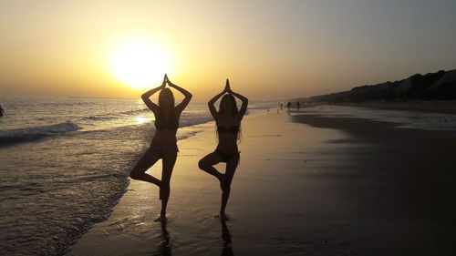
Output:
[[[2,1],[0,91],[138,97],[109,67],[134,36],[160,46],[198,99],[227,77],[247,97],[282,99],[456,68],[454,2],[372,2]]]

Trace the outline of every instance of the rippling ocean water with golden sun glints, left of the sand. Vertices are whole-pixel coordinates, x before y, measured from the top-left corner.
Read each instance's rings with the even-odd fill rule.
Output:
[[[141,99],[0,97],[0,104],[0,254],[64,254],[126,191],[154,134],[153,114]],[[251,102],[248,114],[275,106]],[[209,121],[206,102],[193,100],[180,127]],[[178,139],[192,135],[178,130]]]

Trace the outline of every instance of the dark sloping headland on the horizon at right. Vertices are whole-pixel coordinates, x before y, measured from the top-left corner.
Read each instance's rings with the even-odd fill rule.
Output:
[[[318,104],[456,113],[456,69],[300,99]]]

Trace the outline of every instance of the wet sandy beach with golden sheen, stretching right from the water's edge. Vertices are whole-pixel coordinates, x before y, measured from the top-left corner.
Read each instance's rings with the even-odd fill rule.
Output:
[[[449,255],[455,242],[454,133],[312,109],[244,118],[223,223],[219,184],[197,168],[215,148],[214,124],[184,129],[195,135],[179,143],[167,225],[153,221],[158,188],[131,180],[68,256]],[[160,177],[161,162],[149,173]]]

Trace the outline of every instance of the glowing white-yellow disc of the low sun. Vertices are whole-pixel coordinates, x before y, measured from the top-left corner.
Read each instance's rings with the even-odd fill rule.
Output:
[[[161,83],[170,72],[170,58],[165,50],[147,37],[136,37],[115,46],[109,57],[113,74],[130,87],[145,88]]]

